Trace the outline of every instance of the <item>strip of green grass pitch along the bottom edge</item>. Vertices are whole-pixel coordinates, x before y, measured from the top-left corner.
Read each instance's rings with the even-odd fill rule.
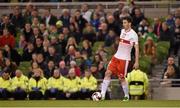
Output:
[[[0,107],[180,107],[180,100],[139,100],[128,102],[122,102],[120,100],[99,102],[88,100],[0,101]]]

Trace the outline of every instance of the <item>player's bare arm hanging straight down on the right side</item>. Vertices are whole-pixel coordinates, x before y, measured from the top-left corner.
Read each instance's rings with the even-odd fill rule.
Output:
[[[134,45],[135,48],[135,63],[134,63],[134,69],[139,68],[139,44]]]

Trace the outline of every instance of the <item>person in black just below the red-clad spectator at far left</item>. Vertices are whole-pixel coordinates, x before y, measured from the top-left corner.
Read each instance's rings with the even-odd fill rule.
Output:
[[[4,51],[4,56],[11,61],[15,62],[17,66],[19,66],[20,61],[21,61],[21,55],[17,52],[16,49],[11,48],[9,45],[4,46],[5,51]]]

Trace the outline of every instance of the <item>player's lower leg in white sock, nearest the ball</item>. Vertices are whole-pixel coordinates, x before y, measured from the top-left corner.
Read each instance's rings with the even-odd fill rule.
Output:
[[[109,86],[110,80],[111,80],[111,74],[112,74],[112,72],[110,70],[107,70],[105,73],[105,77],[104,77],[104,80],[101,85],[102,99],[105,99],[106,91],[108,89],[108,86]]]

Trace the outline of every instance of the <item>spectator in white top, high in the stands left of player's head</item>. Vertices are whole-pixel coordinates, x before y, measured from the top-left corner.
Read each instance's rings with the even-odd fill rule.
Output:
[[[88,4],[83,4],[81,6],[81,10],[82,10],[83,18],[86,19],[88,22],[90,22],[92,12],[89,10]]]

